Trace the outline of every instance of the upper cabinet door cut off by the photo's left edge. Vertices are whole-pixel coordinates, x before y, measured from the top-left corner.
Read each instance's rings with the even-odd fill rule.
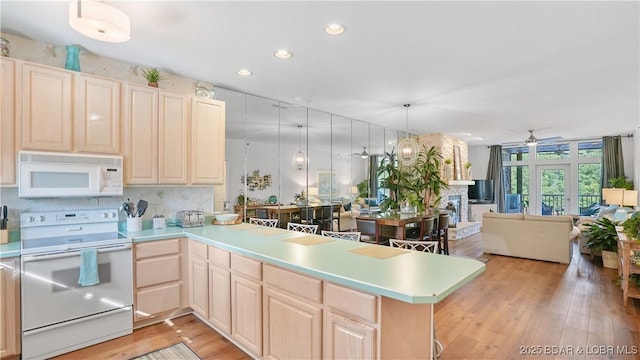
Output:
[[[16,86],[15,60],[3,57],[0,60],[0,184],[16,183]]]

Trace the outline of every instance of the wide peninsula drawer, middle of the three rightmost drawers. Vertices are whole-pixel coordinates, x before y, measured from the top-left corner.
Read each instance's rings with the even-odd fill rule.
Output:
[[[315,302],[322,301],[322,281],[271,265],[264,266],[265,283]]]

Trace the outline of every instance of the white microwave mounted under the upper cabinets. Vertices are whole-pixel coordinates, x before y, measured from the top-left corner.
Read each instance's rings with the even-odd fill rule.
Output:
[[[18,197],[122,196],[122,156],[18,152]]]

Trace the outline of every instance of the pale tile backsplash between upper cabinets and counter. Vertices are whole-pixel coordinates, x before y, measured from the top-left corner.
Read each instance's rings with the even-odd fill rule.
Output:
[[[205,215],[211,215],[215,195],[213,186],[157,186],[125,187],[122,197],[20,199],[17,187],[0,188],[0,203],[9,208],[8,224],[11,230],[20,229],[22,212],[118,208],[127,199],[134,204],[140,199],[146,200],[149,207],[142,219],[150,220],[154,215],[173,218],[180,210],[202,210]],[[120,220],[125,219],[124,213],[120,212]]]

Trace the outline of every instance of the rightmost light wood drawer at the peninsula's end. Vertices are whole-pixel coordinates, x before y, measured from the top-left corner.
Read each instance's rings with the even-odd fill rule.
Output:
[[[378,298],[342,286],[326,283],[324,302],[327,306],[370,322],[377,321]]]

